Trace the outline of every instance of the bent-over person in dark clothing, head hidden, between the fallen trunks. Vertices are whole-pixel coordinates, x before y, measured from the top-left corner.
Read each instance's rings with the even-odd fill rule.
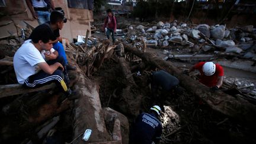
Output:
[[[177,89],[180,84],[180,81],[175,76],[162,70],[152,72],[149,82],[151,83],[151,91],[154,100],[158,99],[158,89],[161,89],[161,99],[165,100],[166,95],[172,90]]]

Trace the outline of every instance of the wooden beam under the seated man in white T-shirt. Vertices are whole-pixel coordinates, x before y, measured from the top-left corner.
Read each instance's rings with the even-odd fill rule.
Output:
[[[44,89],[50,89],[54,88],[56,85],[54,83],[49,85],[44,85],[43,87],[39,88],[25,88],[21,84],[11,84],[11,85],[0,85],[0,98],[8,97],[11,95],[17,95],[17,94],[26,94],[29,92],[34,91],[41,91]]]

